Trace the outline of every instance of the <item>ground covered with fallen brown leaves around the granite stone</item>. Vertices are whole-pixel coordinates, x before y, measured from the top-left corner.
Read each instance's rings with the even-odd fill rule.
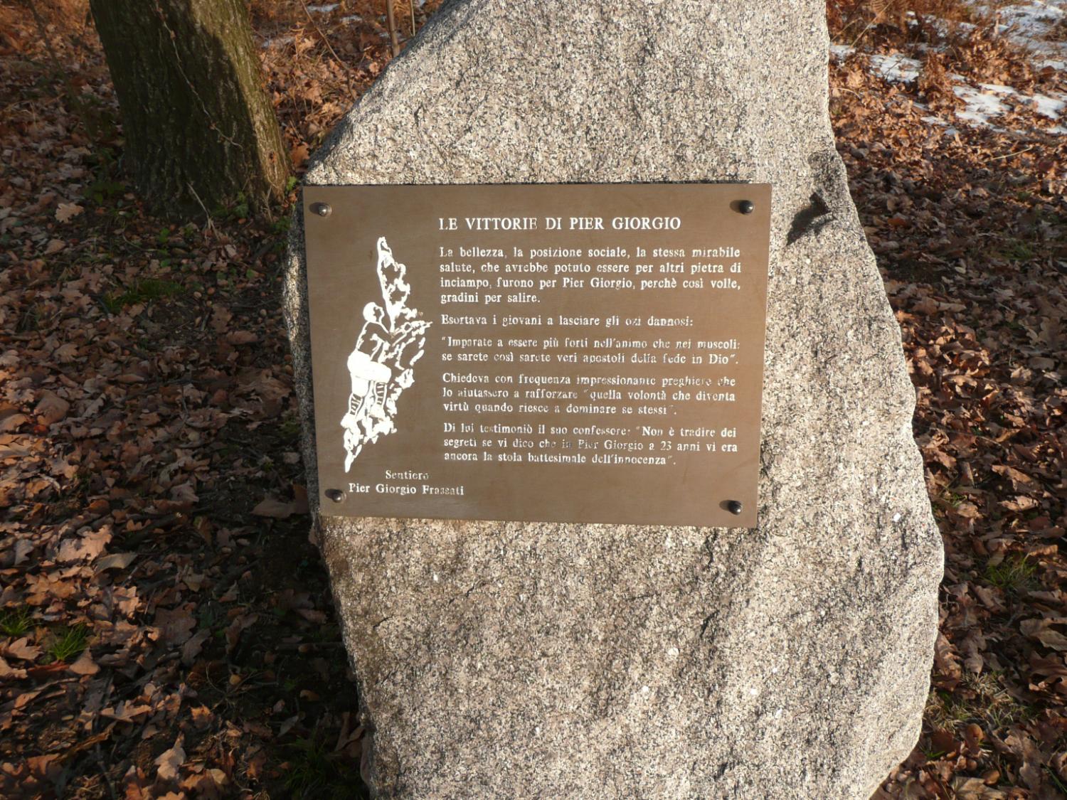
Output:
[[[388,61],[381,3],[252,10],[299,175]],[[946,550],[922,737],[878,797],[1067,797],[1067,14],[829,10]],[[79,0],[0,2],[0,796],[362,796],[286,209],[145,213]]]

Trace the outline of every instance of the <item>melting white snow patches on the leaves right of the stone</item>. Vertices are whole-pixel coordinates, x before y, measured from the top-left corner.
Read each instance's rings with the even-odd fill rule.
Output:
[[[975,7],[980,11],[984,9],[981,5]],[[1067,20],[1067,0],[1031,0],[1028,3],[1002,6],[998,13],[1001,19],[998,30],[1016,43],[1029,47],[1034,52],[1035,63],[1038,66],[1067,68],[1067,43],[1044,38],[1055,26]],[[832,58],[842,61],[854,51],[851,47],[845,45],[832,45],[830,50]],[[913,81],[922,71],[921,61],[903,54],[871,53],[867,59],[875,75],[896,83]],[[950,75],[949,79],[953,82],[953,92],[965,103],[965,107],[956,112],[956,118],[969,125],[996,128],[992,121],[1010,110],[1010,106],[1003,101],[1006,97],[1017,102],[1020,100],[1029,102],[1038,114],[1049,119],[1064,119],[1067,123],[1065,117],[1067,95],[1023,95],[1012,86],[999,83],[980,83],[973,86],[961,75]],[[919,103],[917,107],[923,108]],[[956,129],[951,127],[950,121],[937,116],[923,118],[935,125],[949,126],[946,132],[950,134],[956,132]],[[1067,134],[1067,125],[1057,125],[1044,130]]]

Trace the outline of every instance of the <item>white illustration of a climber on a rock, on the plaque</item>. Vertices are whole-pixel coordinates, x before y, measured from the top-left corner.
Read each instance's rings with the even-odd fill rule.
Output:
[[[345,429],[345,471],[349,470],[364,445],[393,433],[397,398],[414,382],[412,367],[423,357],[426,330],[430,322],[415,319],[418,310],[408,306],[411,286],[407,268],[393,258],[385,237],[378,240],[378,282],[382,304],[363,307],[363,330],[348,356],[352,390],[348,413],[340,420]]]

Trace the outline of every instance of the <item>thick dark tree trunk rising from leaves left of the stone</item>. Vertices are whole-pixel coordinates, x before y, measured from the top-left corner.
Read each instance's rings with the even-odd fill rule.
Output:
[[[284,191],[289,160],[242,0],[91,0],[118,95],[125,163],[155,210],[207,212]]]

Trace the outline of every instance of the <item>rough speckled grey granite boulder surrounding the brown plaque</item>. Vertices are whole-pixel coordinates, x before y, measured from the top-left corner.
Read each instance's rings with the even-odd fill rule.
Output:
[[[453,2],[316,157],[309,183],[775,192],[759,529],[318,521],[380,797],[855,800],[914,743],[941,543],[824,7]]]

